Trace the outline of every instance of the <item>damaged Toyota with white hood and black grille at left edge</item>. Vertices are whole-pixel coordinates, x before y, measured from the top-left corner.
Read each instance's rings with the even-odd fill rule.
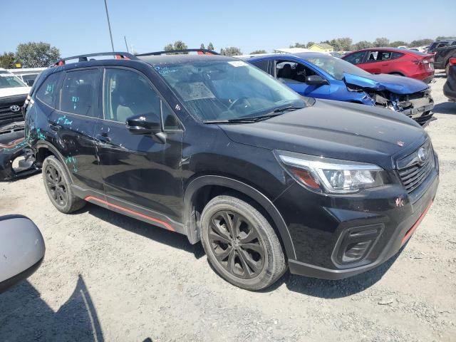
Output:
[[[0,68],[0,180],[36,172],[33,155],[24,136],[22,107],[30,87]]]

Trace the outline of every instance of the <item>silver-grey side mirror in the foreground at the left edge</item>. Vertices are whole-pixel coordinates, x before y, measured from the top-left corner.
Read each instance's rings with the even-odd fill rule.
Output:
[[[25,216],[0,217],[0,293],[28,278],[44,258],[43,236]]]

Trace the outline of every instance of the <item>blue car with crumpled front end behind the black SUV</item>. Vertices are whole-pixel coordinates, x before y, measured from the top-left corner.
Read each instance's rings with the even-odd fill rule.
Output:
[[[408,115],[420,125],[432,119],[430,88],[413,78],[373,75],[326,53],[276,53],[245,61],[304,96],[381,106]]]

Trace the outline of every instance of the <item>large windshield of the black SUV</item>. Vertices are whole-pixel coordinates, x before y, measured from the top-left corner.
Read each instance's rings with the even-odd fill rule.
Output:
[[[303,108],[304,98],[243,61],[192,61],[154,66],[201,120],[255,118],[281,108]]]

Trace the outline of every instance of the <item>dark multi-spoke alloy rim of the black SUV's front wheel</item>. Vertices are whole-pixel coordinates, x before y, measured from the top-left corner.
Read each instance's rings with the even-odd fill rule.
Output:
[[[237,212],[222,210],[211,217],[209,244],[217,262],[234,276],[252,279],[264,267],[266,253],[257,229]]]

